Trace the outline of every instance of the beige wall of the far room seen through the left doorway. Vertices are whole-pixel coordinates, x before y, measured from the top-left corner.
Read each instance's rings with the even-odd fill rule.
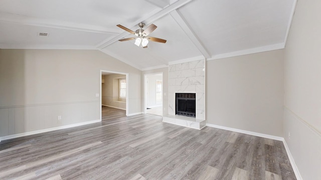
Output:
[[[126,109],[126,100],[119,101],[119,78],[126,78],[125,74],[103,75],[101,84],[101,100],[103,105]]]

